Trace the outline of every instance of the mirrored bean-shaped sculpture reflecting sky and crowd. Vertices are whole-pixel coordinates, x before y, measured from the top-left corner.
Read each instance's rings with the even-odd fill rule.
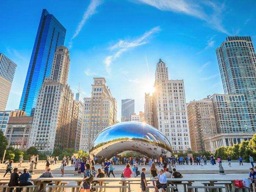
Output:
[[[139,122],[123,122],[102,130],[93,140],[90,156],[112,158],[124,151],[134,151],[147,157],[170,157],[172,147],[158,129]]]

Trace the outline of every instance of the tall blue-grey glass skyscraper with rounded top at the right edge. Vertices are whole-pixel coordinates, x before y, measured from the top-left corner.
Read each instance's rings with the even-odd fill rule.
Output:
[[[243,94],[256,131],[256,53],[251,37],[227,37],[216,49],[225,94]]]

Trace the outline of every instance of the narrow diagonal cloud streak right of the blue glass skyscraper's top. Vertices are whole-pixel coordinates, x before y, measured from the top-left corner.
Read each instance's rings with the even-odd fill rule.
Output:
[[[82,30],[84,24],[92,15],[96,13],[96,8],[102,3],[101,0],[91,0],[91,3],[87,7],[87,9],[84,11],[83,18],[80,20],[75,33],[72,35],[70,41],[69,41],[69,48],[72,47],[73,45],[73,39],[76,38],[76,36],[80,33]]]

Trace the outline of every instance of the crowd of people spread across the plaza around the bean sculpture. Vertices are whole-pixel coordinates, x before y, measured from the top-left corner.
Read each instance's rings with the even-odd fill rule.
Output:
[[[18,168],[14,168],[14,172],[12,173],[12,163],[7,163],[7,169],[4,174],[4,177],[7,173],[11,173],[11,178],[9,182],[9,186],[27,186],[27,185],[33,185],[30,182],[31,173],[33,173],[33,169],[37,169],[38,164],[38,155],[31,156],[29,163],[30,168],[29,171],[27,169],[23,170],[23,173],[18,172]],[[219,163],[219,166],[221,164],[221,158],[218,157],[215,161],[215,157],[211,155],[209,157],[210,164],[215,165],[216,161]],[[19,159],[18,166],[22,166],[23,157]],[[153,181],[152,184],[155,187],[156,192],[165,192],[167,187],[167,178],[181,178],[183,177],[180,172],[176,171],[177,165],[207,165],[207,157],[204,156],[197,156],[197,157],[189,157],[188,155],[185,157],[165,157],[161,156],[159,158],[151,157],[120,157],[115,156],[111,159],[106,159],[104,157],[94,157],[91,159],[90,157],[87,158],[80,158],[76,157],[75,155],[72,157],[63,157],[61,163],[60,163],[60,170],[61,170],[61,177],[64,177],[64,167],[69,165],[69,162],[71,161],[71,167],[74,167],[74,175],[80,175],[83,177],[83,184],[82,189],[84,192],[90,192],[91,186],[98,184],[97,181],[94,181],[93,179],[95,177],[110,177],[111,175],[115,177],[114,169],[116,165],[124,164],[125,168],[121,174],[121,177],[125,178],[131,178],[131,177],[138,177],[140,175],[141,178],[141,189],[142,192],[146,191],[146,167],[144,165],[148,164],[150,166],[149,173],[150,177],[156,178],[157,181]],[[229,163],[229,166],[231,166],[231,158],[228,156],[227,161]],[[242,164],[243,159],[239,157],[238,159],[239,164]],[[256,180],[256,171],[253,170],[253,158],[251,155],[249,155],[249,161],[251,162],[252,168],[250,168],[250,174],[249,174],[249,180],[252,182],[252,186],[255,188],[255,180]],[[45,172],[39,176],[39,177],[45,177],[45,178],[52,178],[53,174],[50,172],[50,165],[54,165],[59,162],[59,157],[47,157],[45,161]],[[94,165],[98,163],[101,165],[101,168],[98,168],[95,170]],[[143,166],[141,170],[139,170],[139,166]],[[159,168],[158,168],[159,167]],[[256,168],[256,166],[255,166]],[[140,172],[141,171],[141,172]],[[44,181],[44,182],[51,182]],[[178,191],[177,184],[179,184],[180,181],[173,181],[170,184],[176,185],[176,188],[174,191]],[[42,184],[39,188],[39,190],[42,190]],[[17,192],[20,192],[22,188],[17,188]],[[13,190],[13,188],[12,188]],[[11,190],[11,191],[12,191]],[[130,184],[128,183],[128,191],[131,191]],[[255,191],[254,191],[255,192]]]

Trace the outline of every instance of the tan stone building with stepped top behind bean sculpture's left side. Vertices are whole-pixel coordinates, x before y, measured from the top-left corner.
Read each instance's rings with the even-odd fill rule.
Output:
[[[89,150],[95,136],[116,123],[117,103],[105,78],[93,78],[91,97],[84,98],[84,116],[80,136],[80,150]]]

